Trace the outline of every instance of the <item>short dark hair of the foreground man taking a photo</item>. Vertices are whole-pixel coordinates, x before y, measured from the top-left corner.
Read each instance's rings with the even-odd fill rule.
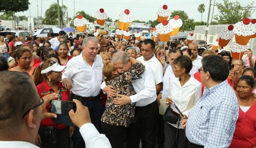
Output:
[[[23,72],[1,71],[0,77],[0,133],[16,135],[23,114],[38,103],[39,96],[32,79]]]

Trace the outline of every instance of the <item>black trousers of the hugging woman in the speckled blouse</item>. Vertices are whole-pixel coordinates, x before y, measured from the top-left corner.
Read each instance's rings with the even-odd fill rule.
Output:
[[[127,127],[101,121],[101,132],[109,139],[112,148],[123,148]]]

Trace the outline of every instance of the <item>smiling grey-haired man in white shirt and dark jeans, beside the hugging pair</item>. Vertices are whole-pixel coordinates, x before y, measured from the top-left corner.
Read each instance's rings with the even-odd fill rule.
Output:
[[[71,88],[71,98],[78,99],[89,108],[91,122],[99,130],[102,115],[101,97],[99,96],[102,82],[103,62],[98,53],[98,40],[95,37],[86,37],[82,44],[83,52],[67,63],[62,75],[63,86]],[[84,141],[75,128],[73,135],[74,148],[84,147]]]

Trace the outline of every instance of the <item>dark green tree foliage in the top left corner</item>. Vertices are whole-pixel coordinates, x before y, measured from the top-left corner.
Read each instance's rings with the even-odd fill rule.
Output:
[[[29,0],[1,0],[0,12],[23,12],[29,9],[29,4]]]

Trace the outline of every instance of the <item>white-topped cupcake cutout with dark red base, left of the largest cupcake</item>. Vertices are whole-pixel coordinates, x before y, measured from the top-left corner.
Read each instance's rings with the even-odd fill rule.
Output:
[[[227,28],[223,28],[219,33],[219,45],[225,47],[229,44],[229,41],[234,37],[234,26],[229,25]]]

